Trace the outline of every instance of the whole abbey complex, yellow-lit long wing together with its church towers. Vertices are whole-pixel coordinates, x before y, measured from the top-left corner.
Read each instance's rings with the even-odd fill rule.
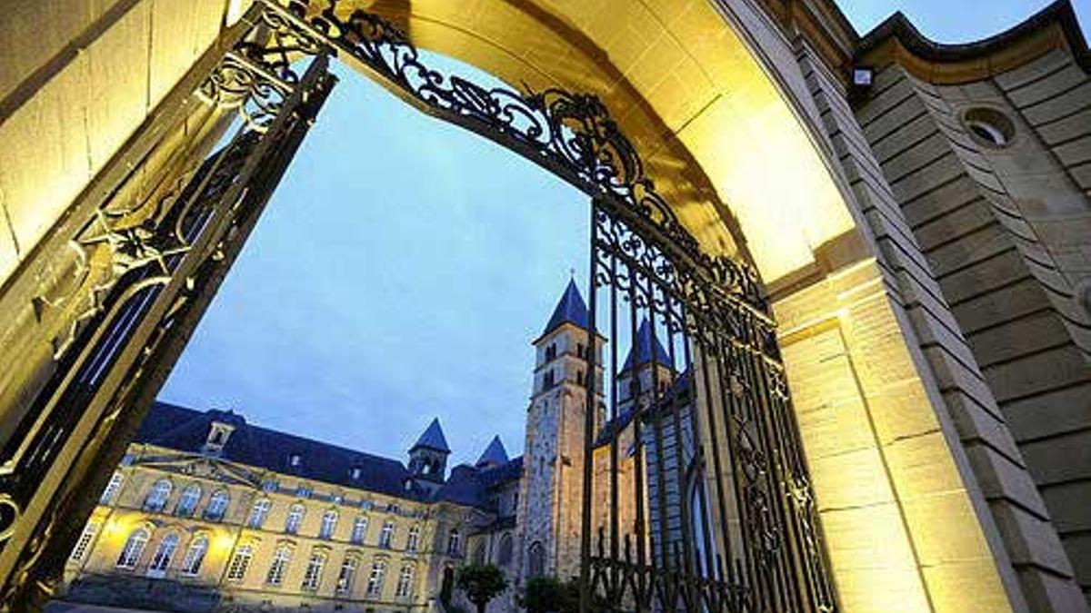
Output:
[[[492,605],[505,611],[530,577],[572,578],[587,326],[570,283],[533,342],[526,454],[509,458],[497,436],[473,465],[449,470],[439,419],[406,458],[385,458],[232,411],[157,402],[71,552],[64,598],[183,611],[430,612],[458,602],[458,566],[489,562],[514,588]],[[637,339],[619,381],[648,378],[654,366],[668,385],[671,360],[647,323]],[[599,337],[600,356],[607,342]],[[601,390],[601,366],[595,380]],[[635,400],[616,422],[598,402],[602,441],[627,428]]]

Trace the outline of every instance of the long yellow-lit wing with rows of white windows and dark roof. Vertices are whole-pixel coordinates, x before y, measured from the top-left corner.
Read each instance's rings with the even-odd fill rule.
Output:
[[[485,522],[433,421],[407,469],[157,404],[67,566],[68,598],[177,611],[429,611]],[[424,468],[424,458],[429,460]]]

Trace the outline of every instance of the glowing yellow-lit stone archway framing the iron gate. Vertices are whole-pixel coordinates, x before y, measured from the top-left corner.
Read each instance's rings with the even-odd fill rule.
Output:
[[[814,136],[806,105],[792,98],[799,86],[792,81],[793,71],[769,68],[770,56],[774,61],[784,59],[778,53],[790,57],[788,46],[782,40],[758,39],[771,29],[755,25],[760,19],[748,4],[690,2],[684,9],[657,10],[643,4],[584,7],[528,0],[514,4],[482,1],[469,10],[460,7],[460,11],[441,2],[415,2],[411,10],[398,2],[376,2],[368,8],[404,23],[421,46],[466,60],[508,82],[591,91],[612,108],[626,109],[618,113],[619,122],[646,152],[649,173],[684,178],[663,181],[659,188],[674,203],[671,212],[702,249],[714,255],[747,254],[753,260],[774,289],[793,393],[862,407],[860,419],[864,423],[859,440],[847,444],[824,441],[820,423],[808,423],[805,416],[801,419],[804,446],[815,469],[819,509],[824,502],[829,507],[823,517],[832,542],[835,580],[847,602],[882,610],[888,601],[875,593],[874,585],[878,584],[885,586],[878,591],[896,593],[901,601],[936,608],[954,579],[925,572],[926,566],[934,566],[920,551],[925,544],[958,550],[959,561],[973,564],[972,568],[952,567],[963,573],[959,580],[969,581],[990,602],[1007,601],[1004,586],[1010,578],[1000,576],[990,554],[990,548],[995,546],[990,533],[993,528],[982,518],[980,495],[967,485],[964,458],[951,445],[950,425],[936,408],[935,384],[924,374],[913,334],[888,295],[884,272],[875,265],[877,248],[860,221],[861,214],[851,206],[851,195],[841,187],[831,155]],[[227,25],[241,14],[233,2],[224,9]],[[134,0],[116,8],[120,16],[99,15],[88,20],[96,27],[74,29],[83,34],[105,27],[105,32],[122,37],[124,27],[140,27],[129,21],[140,11],[153,12]],[[183,19],[207,25],[208,15],[199,13],[194,10]],[[609,21],[600,21],[604,13],[621,15],[626,25],[602,27],[601,23]],[[181,38],[177,39],[179,46]],[[171,37],[166,40],[169,48]],[[115,43],[134,45],[132,40]],[[139,38],[135,45],[141,48]],[[217,45],[223,50],[224,44]],[[53,58],[63,60],[64,49]],[[215,57],[216,47],[213,49]],[[194,61],[196,55],[191,53],[188,60],[184,56],[177,56],[182,71],[201,64],[201,58]],[[547,65],[543,57],[566,61]],[[77,61],[72,60],[73,65]],[[129,58],[121,53],[113,61],[123,63]],[[58,79],[62,74],[63,67],[52,72]],[[683,74],[695,76],[682,79]],[[50,77],[49,70],[35,71],[32,77],[37,83],[21,91],[29,94],[5,95],[9,106],[26,103],[35,97],[34,92],[60,83]],[[169,101],[166,89],[173,82],[163,79],[155,87],[147,87],[155,94],[147,95],[144,106],[154,106],[153,100],[158,99]],[[26,83],[24,80],[20,85]],[[63,87],[58,85],[58,89]],[[106,87],[124,99],[122,89]],[[686,95],[678,95],[680,91]],[[94,106],[89,103],[88,108]],[[16,110],[26,108],[20,104]],[[132,143],[122,147],[122,141],[144,111],[129,109],[123,117],[104,121],[96,133],[84,134],[99,146],[99,159],[89,163],[88,176],[100,179],[105,171],[99,170],[109,165],[105,160],[110,155],[132,149]],[[59,134],[63,139],[65,128]],[[154,142],[168,139],[192,143],[195,136],[187,132],[168,137],[160,134]],[[60,180],[63,166],[39,166],[46,170],[20,161],[10,166],[36,177],[39,183],[37,190],[16,192],[20,200],[9,205],[16,209],[13,218],[26,220],[17,228],[13,224],[13,236],[20,240],[13,247],[15,255],[4,261],[4,298],[14,296],[19,304],[2,314],[13,325],[37,316],[32,306],[37,308],[33,300],[38,297],[16,296],[11,291],[17,285],[12,279],[36,256],[49,253],[48,237],[71,216],[69,204],[75,193],[91,184],[80,179]],[[830,330],[832,336],[827,334]],[[38,336],[27,345],[52,344],[58,336],[55,329],[33,333]],[[841,359],[836,371],[837,390],[827,389],[829,371],[814,374],[818,372],[816,357],[828,353],[830,342],[840,344],[834,349]],[[824,376],[827,380],[820,381]],[[0,397],[8,402],[5,408],[25,401],[29,378],[3,382]],[[897,440],[920,433],[935,434],[927,440],[932,447],[921,457],[940,476],[943,491],[954,492],[945,498],[948,506],[935,507],[938,515],[925,513],[930,508],[926,502],[912,500],[931,484],[914,482],[912,465],[906,465],[906,458],[892,448]],[[72,445],[71,452],[76,454],[82,442]],[[828,447],[836,448],[830,452]],[[852,465],[863,466],[865,472],[844,477]],[[65,481],[71,484],[71,479]],[[864,522],[866,538],[892,543],[889,551],[861,552],[860,537],[854,534],[861,526],[853,522],[862,516],[854,519],[844,513],[855,507],[871,516]],[[966,541],[950,546],[927,541],[938,527],[937,519],[955,518],[967,528]],[[15,567],[9,552],[0,566],[4,573]]]

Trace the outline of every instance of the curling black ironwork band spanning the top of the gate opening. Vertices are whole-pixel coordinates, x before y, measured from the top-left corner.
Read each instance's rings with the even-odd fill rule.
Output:
[[[706,283],[718,286],[710,291],[768,314],[757,272],[734,259],[702,251],[597,96],[559,88],[533,92],[525,87],[520,93],[482,87],[430,69],[398,27],[374,13],[350,9],[345,0],[287,0],[287,8],[265,1],[266,12],[312,28],[429,112],[454,117],[489,137],[514,141],[533,161],[556,170],[591,195],[606,196],[607,206],[624,208],[628,217],[644,223],[643,240],[661,241],[661,247],[682,252]]]

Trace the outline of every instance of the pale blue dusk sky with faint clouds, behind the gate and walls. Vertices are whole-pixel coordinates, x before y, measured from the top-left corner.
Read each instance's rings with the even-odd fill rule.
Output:
[[[840,2],[861,33],[895,10],[926,36],[1000,32],[1045,0]],[[1091,0],[1078,0],[1083,23]],[[1086,27],[1084,27],[1086,29]],[[436,68],[488,77],[448,60]],[[404,457],[439,416],[473,461],[521,453],[533,350],[575,271],[587,199],[521,157],[340,83],[160,399]]]

